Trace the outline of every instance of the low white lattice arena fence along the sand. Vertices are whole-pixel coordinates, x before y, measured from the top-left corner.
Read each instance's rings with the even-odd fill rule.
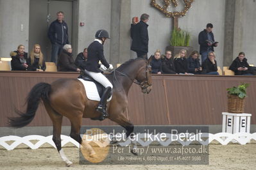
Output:
[[[143,140],[144,139],[144,134],[139,134],[137,137],[139,140],[137,140],[138,144],[141,144],[142,146],[148,146],[148,144],[151,144],[153,142],[158,142],[159,144],[161,144],[162,146],[168,146],[169,144],[173,143],[173,142],[178,142],[180,144],[182,144],[183,146],[187,146],[191,143],[194,143],[194,141],[186,141],[186,140],[173,140],[170,141],[171,137],[173,134],[167,134],[166,140],[165,141],[158,141],[157,138],[155,138],[154,136],[152,136],[152,138],[154,140]],[[179,134],[178,134],[179,135]],[[198,135],[198,134],[196,134]],[[195,139],[198,139],[195,135]],[[83,135],[84,137],[84,135]],[[238,144],[246,144],[246,143],[250,143],[251,140],[255,140],[256,141],[256,133],[250,134],[250,133],[236,133],[236,134],[230,134],[230,133],[218,133],[218,134],[208,134],[208,133],[203,133],[201,134],[201,137],[203,137],[203,141],[197,141],[200,144],[203,145],[208,145],[210,143],[212,143],[212,141],[217,141],[219,144],[222,145],[226,145],[229,143],[238,143]],[[24,137],[19,137],[19,136],[15,136],[15,135],[9,135],[9,136],[4,136],[4,137],[0,137],[0,146],[3,146],[3,148],[5,148],[6,150],[14,150],[17,146],[19,146],[19,144],[26,144],[26,146],[28,146],[29,148],[31,148],[32,150],[38,149],[40,148],[40,146],[42,146],[43,144],[50,144],[51,146],[53,146],[54,148],[56,148],[55,143],[53,143],[53,135],[49,135],[47,137],[42,136],[42,135],[27,135]],[[205,139],[207,138],[207,139]],[[80,144],[78,142],[76,142],[74,139],[72,139],[71,137],[67,136],[67,135],[61,135],[61,139],[62,139],[62,146],[65,146],[65,144],[67,143],[72,143],[74,144],[74,146],[76,147],[80,147]],[[110,137],[110,139],[112,139],[112,137]],[[8,144],[6,142],[8,141],[13,141],[12,144]],[[31,143],[31,141],[37,141],[37,143],[33,144]],[[196,141],[196,140],[195,140]],[[109,144],[109,141],[106,143],[101,143],[100,141],[93,141],[94,143],[98,144],[99,147],[104,147],[107,144]],[[119,143],[120,146],[127,146],[128,144],[131,144],[131,140],[127,139],[126,141],[124,141],[123,143]]]

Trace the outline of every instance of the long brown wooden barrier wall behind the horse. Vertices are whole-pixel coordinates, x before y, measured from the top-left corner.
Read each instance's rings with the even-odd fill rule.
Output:
[[[25,109],[24,101],[38,82],[76,78],[71,72],[0,72],[0,127],[14,109]],[[256,124],[256,77],[206,75],[153,75],[153,90],[148,95],[133,84],[129,91],[128,117],[135,125],[220,125],[221,112],[227,111],[226,88],[248,82],[245,112]],[[65,118],[63,125],[70,125]],[[116,125],[112,121],[83,119],[83,125]],[[51,120],[40,105],[30,126],[51,126]]]

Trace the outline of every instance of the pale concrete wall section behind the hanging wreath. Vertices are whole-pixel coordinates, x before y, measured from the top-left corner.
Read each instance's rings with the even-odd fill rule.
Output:
[[[169,45],[173,19],[167,18],[156,8],[150,5],[149,0],[131,0],[132,12],[131,19],[134,16],[140,17],[142,13],[148,13],[149,17],[149,54],[151,55],[156,49],[165,52],[166,46]],[[214,25],[215,40],[219,42],[216,48],[218,65],[223,63],[223,43],[224,43],[224,20],[225,20],[225,1],[223,0],[197,0],[192,3],[192,8],[187,15],[178,19],[179,27],[191,32],[191,46],[194,50],[199,50],[198,34],[202,31],[207,23]],[[132,52],[135,56],[135,53]]]

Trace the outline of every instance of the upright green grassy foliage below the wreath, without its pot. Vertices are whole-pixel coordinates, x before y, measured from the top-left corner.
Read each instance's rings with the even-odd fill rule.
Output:
[[[173,29],[171,33],[171,46],[189,46],[191,35],[188,31],[182,30],[180,28]]]

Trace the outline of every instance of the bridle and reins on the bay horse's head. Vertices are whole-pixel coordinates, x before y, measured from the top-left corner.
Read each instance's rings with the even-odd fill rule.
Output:
[[[119,71],[117,71],[117,70],[114,70],[114,77],[115,77],[115,80],[116,80],[117,82],[119,82],[119,81],[117,80],[117,78],[116,78],[115,72],[120,73],[121,75],[124,75],[125,77],[128,77],[128,78],[129,78],[132,82],[134,82],[135,84],[138,84],[139,86],[141,86],[142,89],[146,89],[146,88],[148,88],[149,86],[152,86],[152,84],[149,84],[149,82],[148,82],[149,68],[151,68],[151,66],[150,66],[150,65],[146,65],[146,76],[144,77],[144,78],[145,78],[145,81],[143,81],[143,82],[139,82],[139,81],[137,81],[137,80],[133,81],[133,79],[132,79],[129,75],[126,75],[125,73],[119,72]],[[119,84],[120,84],[120,83],[119,83]]]

